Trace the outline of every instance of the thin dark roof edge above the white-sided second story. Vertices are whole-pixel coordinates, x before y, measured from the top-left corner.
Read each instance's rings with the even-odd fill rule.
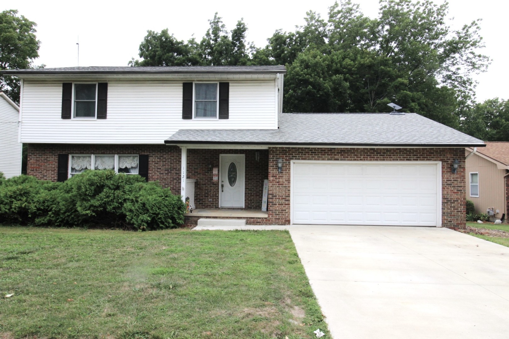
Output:
[[[111,74],[111,73],[286,73],[285,66],[172,66],[172,67],[62,67],[5,70],[5,74]]]

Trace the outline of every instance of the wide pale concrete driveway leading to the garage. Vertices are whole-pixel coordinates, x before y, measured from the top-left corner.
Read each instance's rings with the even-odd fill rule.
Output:
[[[334,338],[509,337],[509,248],[445,228],[289,227]]]

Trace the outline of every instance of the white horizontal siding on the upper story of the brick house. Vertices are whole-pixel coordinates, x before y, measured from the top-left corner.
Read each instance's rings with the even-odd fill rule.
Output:
[[[182,82],[108,82],[106,119],[62,119],[62,82],[24,81],[24,143],[163,143],[179,129],[276,129],[274,79],[230,81],[229,119],[182,119]]]

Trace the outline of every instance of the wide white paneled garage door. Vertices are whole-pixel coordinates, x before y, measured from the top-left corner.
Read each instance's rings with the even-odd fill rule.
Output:
[[[439,226],[436,163],[295,162],[294,224]]]

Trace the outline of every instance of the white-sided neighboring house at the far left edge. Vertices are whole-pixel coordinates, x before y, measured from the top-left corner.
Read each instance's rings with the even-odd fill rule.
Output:
[[[6,178],[21,174],[19,107],[0,91],[0,172]]]

